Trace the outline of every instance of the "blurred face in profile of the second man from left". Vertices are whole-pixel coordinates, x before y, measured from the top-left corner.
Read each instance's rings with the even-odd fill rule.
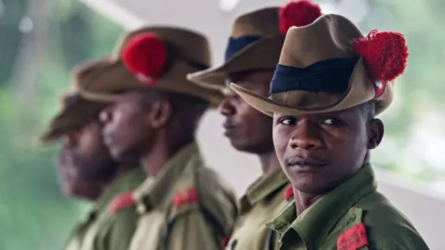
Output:
[[[138,160],[152,147],[155,133],[148,121],[150,110],[140,98],[125,94],[100,115],[104,143],[113,158]]]

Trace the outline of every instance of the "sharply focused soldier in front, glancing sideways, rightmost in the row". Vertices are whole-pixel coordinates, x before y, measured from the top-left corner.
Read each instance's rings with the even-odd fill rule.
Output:
[[[340,15],[289,29],[268,97],[231,84],[273,116],[273,141],[295,202],[268,226],[280,249],[428,249],[411,222],[377,191],[370,151],[403,73],[400,33],[362,32]]]

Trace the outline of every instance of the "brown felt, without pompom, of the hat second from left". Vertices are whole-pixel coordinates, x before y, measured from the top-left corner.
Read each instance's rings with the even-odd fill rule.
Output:
[[[133,38],[149,33],[156,35],[168,48],[168,62],[163,65],[159,78],[145,83],[128,69],[122,52]],[[202,88],[186,79],[187,74],[202,69],[201,66],[211,66],[209,41],[202,33],[173,26],[147,26],[122,35],[106,63],[97,63],[89,72],[78,75],[82,81],[77,81],[76,88],[91,101],[113,103],[127,92],[163,90],[209,101],[210,107],[216,108],[224,98],[220,90]]]

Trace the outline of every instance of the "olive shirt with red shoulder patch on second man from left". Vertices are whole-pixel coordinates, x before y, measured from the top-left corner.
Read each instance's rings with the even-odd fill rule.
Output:
[[[237,214],[234,192],[204,167],[195,143],[147,178],[134,197],[141,216],[130,250],[223,249]]]

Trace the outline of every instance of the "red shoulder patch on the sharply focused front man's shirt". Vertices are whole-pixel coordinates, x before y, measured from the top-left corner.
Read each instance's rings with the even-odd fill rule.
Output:
[[[356,250],[368,244],[364,223],[357,224],[337,239],[337,250]]]

